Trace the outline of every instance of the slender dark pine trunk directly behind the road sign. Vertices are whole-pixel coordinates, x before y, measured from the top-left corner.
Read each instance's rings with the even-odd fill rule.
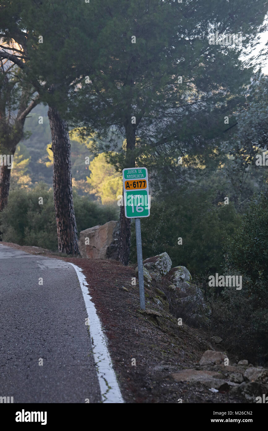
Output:
[[[126,120],[125,128],[126,128],[126,168],[134,168],[135,156],[133,154],[133,150],[135,149],[136,128],[135,128],[135,125],[131,124],[130,114]],[[119,259],[120,262],[123,263],[123,265],[127,265],[129,262],[129,253],[130,253],[131,219],[127,219],[125,217],[124,205],[121,205],[120,207],[119,224],[120,224],[120,229],[119,229],[119,238],[118,238],[118,245],[117,245],[117,259]]]

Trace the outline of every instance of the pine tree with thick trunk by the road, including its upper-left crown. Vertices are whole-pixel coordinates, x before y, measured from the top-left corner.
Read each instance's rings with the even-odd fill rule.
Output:
[[[59,251],[72,255],[79,254],[79,250],[72,195],[71,144],[68,125],[59,112],[58,103],[68,94],[77,73],[66,59],[75,9],[78,8],[74,1],[6,1],[2,2],[0,21],[4,40],[15,40],[20,45],[18,55],[10,56],[0,50],[0,58],[21,67],[25,85],[33,85],[40,100],[49,105],[58,247]],[[67,62],[70,66],[68,76]]]

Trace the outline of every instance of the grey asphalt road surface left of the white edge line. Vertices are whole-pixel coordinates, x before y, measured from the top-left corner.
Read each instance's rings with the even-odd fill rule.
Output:
[[[0,396],[99,403],[86,317],[70,264],[0,245]]]

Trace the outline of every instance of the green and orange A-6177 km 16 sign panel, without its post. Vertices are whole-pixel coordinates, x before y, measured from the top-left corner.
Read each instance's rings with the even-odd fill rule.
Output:
[[[123,169],[125,215],[128,219],[149,217],[150,201],[146,168]]]

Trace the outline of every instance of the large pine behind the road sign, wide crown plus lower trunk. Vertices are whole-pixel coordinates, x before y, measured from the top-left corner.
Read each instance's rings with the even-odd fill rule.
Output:
[[[224,0],[92,0],[87,6],[90,26],[82,23],[76,50],[83,81],[71,91],[68,112],[85,133],[99,131],[96,152],[107,152],[119,171],[146,165],[164,181],[182,176],[174,166],[179,157],[209,160],[253,74],[253,64],[240,60],[241,46],[223,45],[221,36],[218,43],[216,31],[240,34],[236,42],[242,37],[243,47],[252,47],[267,1],[238,0],[234,7]],[[212,34],[217,44],[209,43]],[[111,156],[118,137],[126,146]],[[122,206],[117,256],[125,265],[129,246]]]

